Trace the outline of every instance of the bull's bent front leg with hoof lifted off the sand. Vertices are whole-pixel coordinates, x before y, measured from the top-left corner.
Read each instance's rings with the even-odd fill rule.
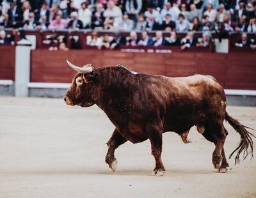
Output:
[[[116,171],[117,160],[115,158],[115,149],[118,148],[121,144],[127,142],[121,133],[115,128],[114,132],[112,133],[111,138],[107,142],[108,145],[108,153],[105,158],[105,162],[109,165],[109,168],[112,169],[113,172]]]

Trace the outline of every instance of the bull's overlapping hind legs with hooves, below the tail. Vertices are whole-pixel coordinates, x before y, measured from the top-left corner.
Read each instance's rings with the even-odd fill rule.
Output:
[[[223,123],[205,123],[205,132],[202,135],[216,146],[212,153],[212,164],[214,168],[221,173],[227,172],[228,163],[223,146],[228,133]]]

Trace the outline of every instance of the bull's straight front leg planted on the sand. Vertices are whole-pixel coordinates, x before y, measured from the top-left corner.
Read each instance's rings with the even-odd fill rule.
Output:
[[[154,176],[163,176],[164,175],[164,165],[162,162],[161,154],[162,154],[162,130],[161,127],[150,128],[147,130],[148,137],[151,143],[152,155],[156,160],[156,167],[153,171]]]

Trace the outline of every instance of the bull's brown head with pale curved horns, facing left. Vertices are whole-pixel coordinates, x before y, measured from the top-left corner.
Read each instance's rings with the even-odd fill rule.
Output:
[[[95,68],[92,65],[85,65],[81,68],[68,61],[67,63],[78,73],[64,96],[66,104],[79,105],[81,107],[94,105],[97,100],[97,80],[95,80],[97,72],[95,72]]]

